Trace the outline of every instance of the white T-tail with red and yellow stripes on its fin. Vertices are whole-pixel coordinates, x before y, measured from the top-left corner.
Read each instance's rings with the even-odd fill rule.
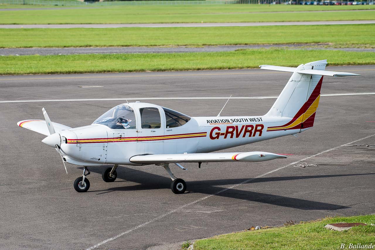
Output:
[[[267,131],[301,129],[314,126],[319,104],[323,76],[357,76],[346,72],[326,71],[327,60],[313,61],[294,67],[260,65],[261,69],[293,72],[287,85],[266,116],[288,117],[290,121],[281,126],[268,127]]]

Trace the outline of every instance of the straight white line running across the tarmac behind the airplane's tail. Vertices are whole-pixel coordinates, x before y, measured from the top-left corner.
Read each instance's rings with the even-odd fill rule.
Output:
[[[321,94],[320,96],[357,96],[372,95],[375,92],[366,93],[342,93],[342,94]],[[231,99],[276,99],[278,96],[254,96],[254,97],[231,97]],[[228,99],[225,97],[140,97],[140,98],[98,98],[98,99],[49,99],[49,100],[8,100],[0,103],[17,102],[90,102],[90,101],[126,101],[126,100],[201,100],[201,99]]]

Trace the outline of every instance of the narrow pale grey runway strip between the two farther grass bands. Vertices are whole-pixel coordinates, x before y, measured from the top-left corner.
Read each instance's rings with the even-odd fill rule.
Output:
[[[327,24],[374,24],[364,21],[306,21],[306,22],[207,22],[207,23],[157,23],[157,24],[2,24],[0,28],[168,28],[168,27],[233,27]]]

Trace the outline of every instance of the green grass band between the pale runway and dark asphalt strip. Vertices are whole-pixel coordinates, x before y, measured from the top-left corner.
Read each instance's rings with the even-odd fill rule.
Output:
[[[375,24],[258,27],[0,29],[1,48],[330,43],[374,47]]]

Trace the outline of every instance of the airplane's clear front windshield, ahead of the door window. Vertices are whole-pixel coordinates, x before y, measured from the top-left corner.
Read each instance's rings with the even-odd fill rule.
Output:
[[[117,105],[111,108],[93,124],[103,124],[111,129],[135,129],[135,115],[132,108],[127,105]]]

